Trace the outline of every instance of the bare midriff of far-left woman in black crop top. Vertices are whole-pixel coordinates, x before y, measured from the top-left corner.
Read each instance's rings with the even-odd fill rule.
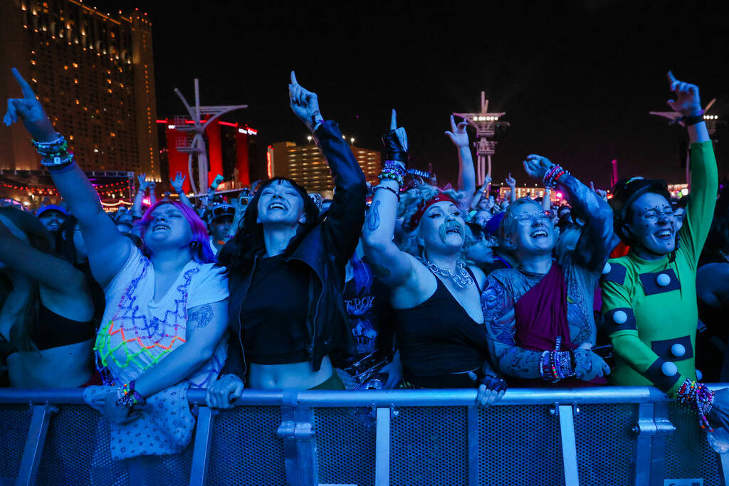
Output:
[[[13,388],[74,388],[93,375],[93,342],[87,340],[40,351],[19,351],[7,357]]]

